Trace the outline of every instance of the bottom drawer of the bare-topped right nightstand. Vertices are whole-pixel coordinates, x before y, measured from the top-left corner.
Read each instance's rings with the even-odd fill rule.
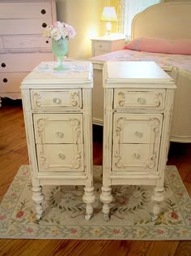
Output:
[[[112,171],[157,171],[159,145],[114,144]]]

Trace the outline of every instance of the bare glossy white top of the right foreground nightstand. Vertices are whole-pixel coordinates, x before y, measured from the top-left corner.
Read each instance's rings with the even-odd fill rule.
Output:
[[[175,88],[172,77],[168,76],[155,62],[108,61],[104,63],[104,81],[104,87],[116,87],[113,84],[120,84],[121,87],[127,84],[132,84],[133,87],[134,84],[150,86],[162,84],[161,86],[166,88],[169,84],[168,87]]]

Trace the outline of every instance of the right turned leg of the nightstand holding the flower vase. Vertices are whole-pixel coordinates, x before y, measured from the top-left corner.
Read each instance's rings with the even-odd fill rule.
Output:
[[[92,203],[95,202],[96,196],[94,194],[94,187],[85,187],[83,202],[87,204],[86,206],[86,215],[85,219],[91,219],[91,215],[93,214],[93,206]]]

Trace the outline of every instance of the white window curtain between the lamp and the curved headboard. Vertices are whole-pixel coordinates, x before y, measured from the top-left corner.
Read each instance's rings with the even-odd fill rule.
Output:
[[[120,18],[118,21],[118,32],[125,33],[127,40],[130,39],[131,35],[131,23],[134,19],[134,16],[138,12],[145,10],[147,7],[150,7],[153,4],[162,2],[161,0],[120,0],[119,8]]]

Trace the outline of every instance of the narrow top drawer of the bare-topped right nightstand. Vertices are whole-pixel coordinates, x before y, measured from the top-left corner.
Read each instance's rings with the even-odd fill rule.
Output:
[[[165,90],[114,89],[114,108],[155,108],[163,109]]]

